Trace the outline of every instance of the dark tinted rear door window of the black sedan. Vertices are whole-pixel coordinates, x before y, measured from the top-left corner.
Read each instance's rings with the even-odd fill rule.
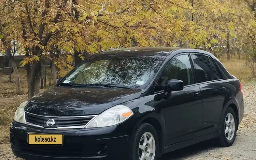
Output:
[[[201,54],[191,54],[195,63],[195,73],[197,83],[212,81],[213,75],[209,58]]]

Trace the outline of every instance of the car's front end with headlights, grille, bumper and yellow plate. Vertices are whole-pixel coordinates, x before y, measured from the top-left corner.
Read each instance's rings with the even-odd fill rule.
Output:
[[[20,108],[22,106],[18,111],[22,112]],[[123,105],[91,116],[24,113],[23,116],[15,114],[10,125],[10,141],[14,155],[26,160],[116,159],[118,156],[123,159],[136,122],[133,112]],[[53,123],[48,123],[52,119],[53,128],[49,127]],[[29,133],[35,135],[28,138]],[[47,136],[51,138],[44,140]],[[62,144],[54,143],[56,141]]]

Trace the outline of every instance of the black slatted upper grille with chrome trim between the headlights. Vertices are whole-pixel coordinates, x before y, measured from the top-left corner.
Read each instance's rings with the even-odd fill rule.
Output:
[[[94,116],[64,116],[64,117],[52,117],[41,116],[25,112],[26,122],[42,126],[44,128],[59,128],[59,127],[75,127],[85,126]],[[49,119],[54,119],[55,124],[47,126],[46,122]]]

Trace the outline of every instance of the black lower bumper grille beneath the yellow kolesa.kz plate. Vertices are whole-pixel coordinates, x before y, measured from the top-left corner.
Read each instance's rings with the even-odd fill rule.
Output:
[[[20,149],[26,153],[54,156],[54,157],[82,157],[83,144],[65,144],[64,145],[29,145],[27,141],[19,140]]]

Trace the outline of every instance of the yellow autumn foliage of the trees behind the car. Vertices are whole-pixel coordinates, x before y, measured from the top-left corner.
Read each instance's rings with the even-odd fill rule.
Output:
[[[39,92],[41,63],[58,73],[90,54],[118,47],[226,48],[254,56],[254,5],[248,0],[1,0],[2,49],[26,54],[29,98]],[[74,62],[74,63],[73,63]]]

